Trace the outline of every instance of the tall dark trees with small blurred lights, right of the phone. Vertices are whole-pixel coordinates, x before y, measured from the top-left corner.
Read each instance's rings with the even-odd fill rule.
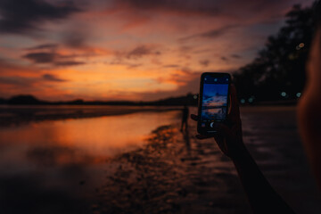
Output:
[[[268,37],[264,48],[249,64],[234,74],[241,103],[294,100],[304,88],[305,66],[314,30],[313,4],[294,5],[285,25]]]

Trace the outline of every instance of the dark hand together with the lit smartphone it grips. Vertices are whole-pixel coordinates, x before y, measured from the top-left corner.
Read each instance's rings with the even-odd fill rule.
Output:
[[[208,81],[208,78],[205,80],[205,77],[211,76],[211,78],[222,78],[222,77],[229,77],[228,74],[222,73],[203,73],[201,78],[201,90],[200,90],[200,100],[199,100],[199,111],[198,115],[191,115],[191,118],[197,121],[197,130],[200,133],[196,137],[199,139],[205,139],[214,137],[215,141],[217,142],[219,148],[222,152],[224,152],[227,156],[231,157],[232,159],[238,158],[242,156],[245,146],[243,144],[243,136],[242,136],[242,124],[240,119],[240,110],[238,105],[238,100],[236,96],[235,86],[231,85],[231,78],[229,77],[228,83],[227,82],[219,82],[218,80],[212,83],[211,80]],[[217,76],[218,75],[218,76]],[[202,80],[203,79],[203,80]],[[204,81],[205,80],[205,81]],[[227,80],[226,80],[227,81]],[[219,84],[222,83],[222,84]],[[202,86],[204,84],[212,84],[214,86]],[[206,101],[209,100],[207,96],[203,97],[203,94],[210,95],[211,92],[215,91],[216,87],[226,88],[226,86],[215,86],[215,85],[228,85],[228,90],[226,94],[226,104],[221,104],[220,108],[226,108],[225,113],[217,113],[218,111],[210,111],[210,115],[212,118],[208,121],[209,113],[207,109],[211,108],[202,108],[203,104],[206,104]],[[204,92],[204,90],[210,90],[211,92]],[[221,93],[223,94],[223,93]],[[214,96],[217,95],[214,93]],[[220,95],[218,93],[218,95]],[[205,98],[205,99],[204,99]],[[212,99],[210,99],[212,100]],[[225,98],[223,99],[225,100]],[[215,100],[213,100],[214,102]],[[217,106],[218,107],[218,106]],[[228,111],[229,110],[229,111]],[[202,111],[203,116],[202,117]],[[224,111],[221,111],[224,112]],[[206,121],[204,121],[206,120]],[[213,122],[212,127],[210,124]],[[202,124],[205,123],[205,127],[202,127]]]

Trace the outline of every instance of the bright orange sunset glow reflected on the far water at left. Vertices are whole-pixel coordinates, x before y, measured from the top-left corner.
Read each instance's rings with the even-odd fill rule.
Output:
[[[111,156],[144,144],[155,128],[179,122],[177,111],[140,112],[92,119],[64,119],[0,130],[2,144],[74,147]]]

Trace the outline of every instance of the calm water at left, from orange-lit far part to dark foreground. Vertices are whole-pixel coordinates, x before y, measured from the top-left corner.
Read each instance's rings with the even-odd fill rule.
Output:
[[[0,128],[0,210],[91,213],[105,161],[145,144],[179,111],[33,122]]]

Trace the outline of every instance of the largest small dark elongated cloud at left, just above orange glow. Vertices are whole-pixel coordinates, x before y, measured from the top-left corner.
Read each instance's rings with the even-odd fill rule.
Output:
[[[54,52],[37,52],[37,53],[27,53],[22,56],[22,58],[28,59],[31,62],[37,64],[53,64],[55,66],[73,66],[85,64],[85,62],[77,62],[72,60],[73,55],[62,55]]]

